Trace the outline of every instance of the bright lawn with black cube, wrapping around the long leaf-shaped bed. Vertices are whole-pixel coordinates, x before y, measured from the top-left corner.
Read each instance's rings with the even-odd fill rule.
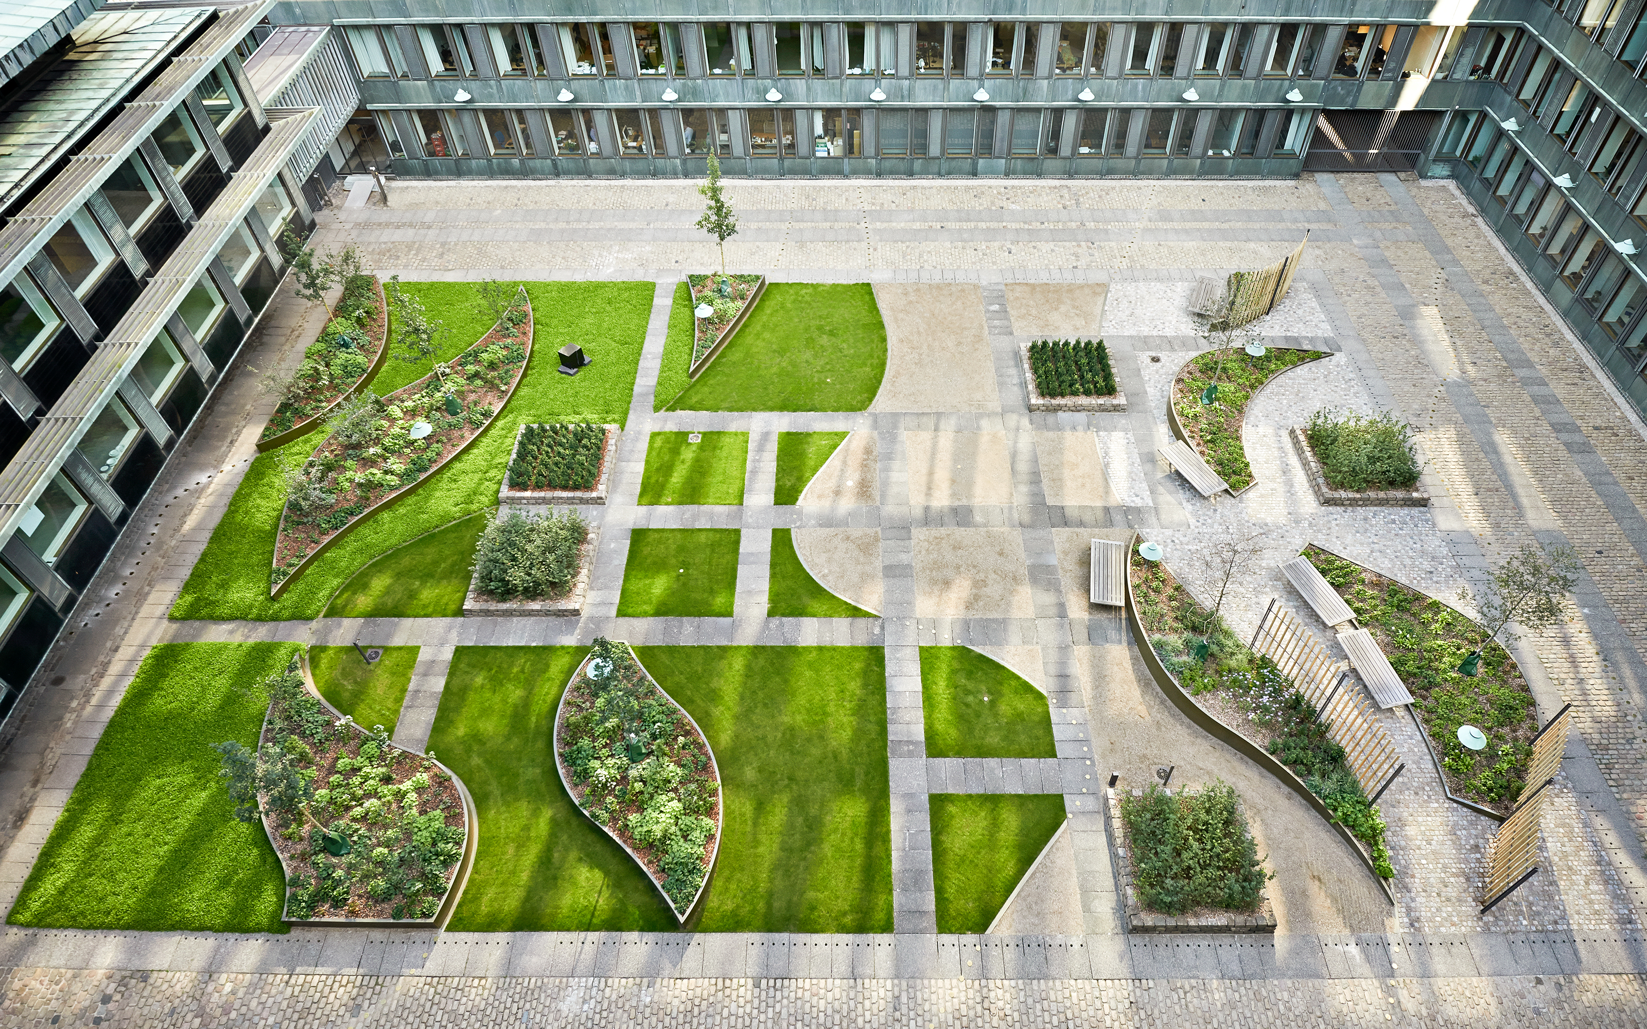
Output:
[[[268,599],[268,565],[283,497],[282,454],[301,461],[318,446],[316,435],[260,454],[217,522],[211,542],[189,573],[176,619],[290,621],[318,617],[338,589],[367,565],[443,525],[497,502],[516,430],[525,421],[586,418],[623,425],[652,311],[649,282],[545,282],[527,286],[540,316],[534,354],[520,387],[502,413],[468,451],[389,510],[359,524],[326,552],[278,601]],[[458,314],[463,306],[456,306]],[[568,316],[570,313],[570,316]],[[450,310],[430,310],[451,318]],[[555,351],[578,342],[595,364],[575,377],[555,372]],[[471,341],[473,342],[473,341]],[[387,374],[394,367],[384,369]]]

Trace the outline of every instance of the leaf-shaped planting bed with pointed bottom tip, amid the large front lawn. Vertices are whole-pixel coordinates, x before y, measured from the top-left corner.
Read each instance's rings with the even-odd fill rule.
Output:
[[[685,922],[720,851],[720,769],[698,723],[628,644],[596,637],[572,673],[555,711],[555,767]]]

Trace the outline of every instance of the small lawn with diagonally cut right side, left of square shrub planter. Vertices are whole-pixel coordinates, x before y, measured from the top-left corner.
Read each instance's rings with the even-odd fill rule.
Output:
[[[1064,822],[1056,794],[932,794],[939,932],[983,932]]]

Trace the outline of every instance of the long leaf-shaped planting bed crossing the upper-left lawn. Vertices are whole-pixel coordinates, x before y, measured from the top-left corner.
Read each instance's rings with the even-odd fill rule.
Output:
[[[427,482],[473,443],[514,395],[532,352],[525,290],[481,339],[436,372],[371,397],[315,451],[288,491],[275,533],[270,596],[372,512]]]

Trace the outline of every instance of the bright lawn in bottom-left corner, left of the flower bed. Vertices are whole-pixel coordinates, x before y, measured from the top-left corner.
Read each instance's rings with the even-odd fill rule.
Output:
[[[92,751],[7,919],[148,932],[287,932],[264,826],[236,822],[211,744],[257,746],[268,698],[249,690],[295,644],[161,644]]]

